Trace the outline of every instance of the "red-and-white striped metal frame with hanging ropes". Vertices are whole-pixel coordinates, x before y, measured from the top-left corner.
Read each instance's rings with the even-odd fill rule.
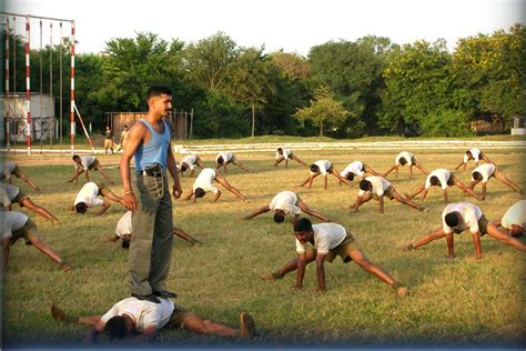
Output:
[[[74,153],[74,137],[75,137],[75,121],[74,121],[74,53],[75,53],[75,26],[74,26],[74,20],[70,19],[60,19],[60,18],[51,18],[51,17],[41,17],[41,16],[33,16],[33,14],[20,14],[20,13],[12,13],[12,12],[0,12],[0,16],[6,17],[6,23],[7,23],[7,38],[6,38],[6,99],[7,102],[9,103],[10,99],[10,86],[9,86],[9,33],[10,33],[10,21],[9,17],[12,17],[13,19],[13,92],[16,93],[16,23],[17,23],[17,18],[26,18],[26,147],[27,147],[27,153],[28,156],[31,154],[31,62],[30,62],[30,36],[31,36],[31,19],[39,19],[40,20],[40,28],[42,27],[42,20],[49,20],[49,21],[59,21],[60,22],[60,31],[61,31],[61,50],[62,50],[62,22],[69,22],[71,23],[71,42],[70,42],[70,53],[71,53],[71,91],[70,91],[70,141],[71,141],[71,154]],[[51,36],[51,43],[52,46],[52,23],[50,24],[50,36]],[[40,44],[42,47],[42,43]],[[50,47],[50,51],[52,54],[53,48]],[[42,48],[40,48],[42,50]],[[61,61],[62,52],[60,52],[60,61]],[[50,63],[51,64],[51,63]],[[62,77],[62,72],[60,72],[60,77]],[[42,79],[41,79],[42,80]],[[50,70],[50,81],[52,80],[52,73]],[[62,82],[60,84],[62,87]],[[50,89],[52,89],[52,83],[50,83]],[[61,89],[62,90],[62,89]],[[52,96],[52,90],[50,90],[50,94]],[[42,97],[41,97],[42,98]],[[60,97],[60,100],[62,101],[62,96]],[[60,113],[62,114],[62,103],[60,104]],[[10,148],[10,138],[11,138],[11,131],[10,131],[10,108],[9,106],[6,109],[6,121],[7,121],[7,147],[8,150]],[[16,111],[14,111],[16,113]],[[60,126],[60,129],[62,129],[62,126]],[[60,136],[62,138],[62,136]]]

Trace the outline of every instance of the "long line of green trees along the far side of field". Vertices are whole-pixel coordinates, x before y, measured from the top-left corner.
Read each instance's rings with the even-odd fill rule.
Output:
[[[13,44],[23,52],[21,38]],[[77,56],[75,99],[82,116],[100,129],[105,112],[143,111],[146,89],[165,84],[178,110],[194,109],[198,138],[247,137],[254,130],[336,138],[462,137],[473,133],[469,123],[476,119],[499,119],[508,129],[513,117],[526,116],[525,52],[526,27],[519,23],[461,39],[453,53],[444,40],[398,46],[388,38],[364,37],[315,46],[302,57],[240,47],[223,32],[189,44],[139,32],[110,40],[103,53]],[[31,52],[31,81],[40,87],[41,66],[43,91],[49,92],[50,62],[57,78],[60,57],[67,66],[68,101],[68,42]],[[21,91],[23,56],[16,61]],[[57,80],[52,84],[58,97]],[[67,103],[64,110],[69,116]]]

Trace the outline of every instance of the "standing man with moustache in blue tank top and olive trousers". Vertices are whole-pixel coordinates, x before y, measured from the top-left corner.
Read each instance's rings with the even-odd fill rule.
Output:
[[[130,130],[120,169],[125,208],[133,212],[133,237],[129,267],[132,297],[160,303],[174,298],[166,291],[173,247],[172,199],[168,174],[173,179],[172,193],[181,197],[178,168],[170,143],[170,128],[163,117],[172,110],[172,92],[166,87],[151,87],[146,92],[148,114]],[[130,160],[135,158],[132,185]]]

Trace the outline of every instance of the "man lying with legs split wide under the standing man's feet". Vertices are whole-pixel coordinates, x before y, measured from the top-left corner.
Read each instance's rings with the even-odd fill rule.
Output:
[[[159,303],[153,303],[128,298],[117,302],[102,315],[88,317],[65,314],[62,309],[50,302],[50,312],[55,321],[92,327],[85,341],[95,341],[101,333],[112,340],[132,338],[135,342],[153,341],[162,328],[181,328],[200,334],[244,339],[256,335],[254,320],[246,312],[240,314],[240,328],[234,329],[188,312],[170,299],[159,298]]]

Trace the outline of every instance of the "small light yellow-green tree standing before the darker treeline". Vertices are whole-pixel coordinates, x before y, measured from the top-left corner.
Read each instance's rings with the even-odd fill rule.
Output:
[[[317,126],[320,137],[323,137],[324,129],[341,127],[350,113],[341,101],[334,99],[334,92],[328,87],[322,86],[314,89],[313,96],[311,106],[297,110],[294,117],[302,123],[311,121]]]

